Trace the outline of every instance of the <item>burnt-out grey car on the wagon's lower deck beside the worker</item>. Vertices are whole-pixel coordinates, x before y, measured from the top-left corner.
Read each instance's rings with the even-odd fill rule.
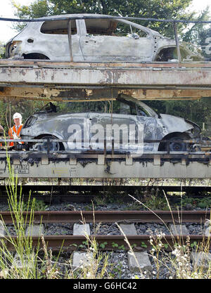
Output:
[[[31,115],[20,132],[30,150],[102,151],[120,153],[193,150],[187,141],[200,139],[200,127],[181,117],[157,114],[140,100],[120,94],[116,100],[71,102],[66,112],[53,103]],[[58,142],[56,139],[63,140]],[[54,141],[51,141],[54,140]],[[159,143],[158,143],[159,141]]]

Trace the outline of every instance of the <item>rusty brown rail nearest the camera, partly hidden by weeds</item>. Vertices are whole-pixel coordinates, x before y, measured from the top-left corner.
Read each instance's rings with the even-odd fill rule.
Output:
[[[171,235],[165,235],[162,238],[162,243],[165,246],[166,251],[172,251],[176,244],[185,245],[186,244],[187,235],[178,235],[172,237]],[[190,245],[200,245],[206,243],[206,247],[210,247],[210,237],[205,237],[203,235],[190,235]],[[17,236],[12,236],[11,240],[6,241],[6,246],[9,250],[15,250],[13,244],[17,241]],[[129,250],[129,246],[125,241],[124,235],[91,235],[89,239],[95,239],[98,243],[98,248],[104,251],[109,250],[119,250],[126,249]],[[87,237],[81,235],[45,235],[44,240],[46,242],[46,246],[48,249],[60,251],[61,249],[64,251],[73,251],[79,249],[87,249],[90,247],[89,240],[87,241]],[[149,235],[127,235],[127,240],[130,245],[133,247],[134,251],[141,251],[146,249],[151,249],[152,245],[150,244],[150,236]],[[101,246],[102,244],[102,246]],[[41,237],[32,237],[32,246],[33,247],[42,247]]]

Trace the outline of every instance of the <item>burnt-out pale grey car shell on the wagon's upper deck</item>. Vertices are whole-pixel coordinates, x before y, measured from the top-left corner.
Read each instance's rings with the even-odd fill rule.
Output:
[[[71,29],[69,20],[63,20],[86,16],[89,19],[71,20]],[[71,55],[74,62],[177,61],[174,39],[134,22],[98,14],[53,15],[45,19],[51,21],[29,22],[8,41],[6,58],[70,61]],[[69,39],[68,27],[71,31]],[[193,46],[191,50],[185,42],[179,46],[181,60],[203,60]]]

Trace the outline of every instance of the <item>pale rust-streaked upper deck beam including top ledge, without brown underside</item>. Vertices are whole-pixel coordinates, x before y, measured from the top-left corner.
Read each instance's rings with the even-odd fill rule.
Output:
[[[162,74],[160,74],[162,72]],[[170,74],[171,73],[171,74]],[[210,86],[211,63],[53,63],[1,60],[0,83]]]

